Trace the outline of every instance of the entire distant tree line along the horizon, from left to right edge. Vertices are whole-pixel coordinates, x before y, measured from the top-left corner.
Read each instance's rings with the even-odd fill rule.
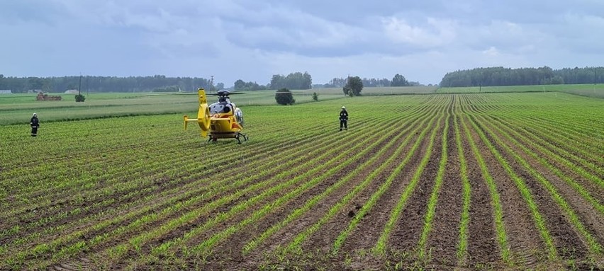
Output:
[[[308,89],[320,87],[342,87],[347,78],[334,78],[323,85],[312,85],[312,77],[307,72],[296,72],[288,76],[274,75],[266,86],[255,82],[235,81],[235,90],[252,91],[260,89]],[[418,86],[419,82],[407,81],[405,76],[396,74],[388,79],[362,79],[363,86]],[[440,86],[529,86],[551,84],[604,83],[604,67],[573,69],[552,69],[550,67],[511,69],[504,67],[476,68],[449,72],[444,75]],[[176,92],[196,91],[197,88],[218,90],[224,83],[213,83],[204,78],[155,76],[63,76],[63,77],[5,77],[0,74],[0,90],[13,93],[43,91],[62,93],[80,90],[82,93],[101,92]]]

